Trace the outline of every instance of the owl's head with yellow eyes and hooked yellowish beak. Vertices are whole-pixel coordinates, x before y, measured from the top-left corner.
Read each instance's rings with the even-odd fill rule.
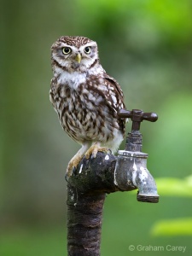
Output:
[[[99,61],[96,42],[84,37],[59,38],[51,46],[51,57],[52,64],[69,72],[85,71]]]

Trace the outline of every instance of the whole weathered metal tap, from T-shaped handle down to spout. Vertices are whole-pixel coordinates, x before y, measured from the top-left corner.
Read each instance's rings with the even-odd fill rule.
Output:
[[[120,118],[132,120],[131,132],[126,137],[125,150],[118,151],[118,160],[115,166],[114,182],[119,189],[137,189],[137,201],[158,202],[154,178],[147,169],[148,154],[142,152],[143,136],[140,125],[143,120],[155,122],[156,113],[144,113],[143,110],[132,111],[121,109]],[[118,175],[117,175],[118,174]]]

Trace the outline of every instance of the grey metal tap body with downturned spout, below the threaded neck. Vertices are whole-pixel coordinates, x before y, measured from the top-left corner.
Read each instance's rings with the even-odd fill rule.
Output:
[[[159,201],[154,177],[147,169],[148,154],[119,150],[114,172],[114,183],[122,190],[138,189],[137,201]]]

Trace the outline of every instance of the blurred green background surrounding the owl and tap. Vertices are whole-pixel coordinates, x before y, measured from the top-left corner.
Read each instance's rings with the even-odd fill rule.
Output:
[[[127,108],[159,115],[142,132],[160,203],[137,202],[137,191],[108,195],[102,255],[153,253],[138,245],[191,255],[191,0],[1,3],[0,255],[67,255],[64,174],[79,145],[49,102],[50,46],[62,35],[95,40]]]

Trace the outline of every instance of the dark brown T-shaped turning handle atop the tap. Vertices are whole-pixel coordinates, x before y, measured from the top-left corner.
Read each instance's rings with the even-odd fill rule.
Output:
[[[119,110],[119,118],[130,118],[132,120],[131,132],[139,132],[143,120],[155,122],[158,119],[156,113],[144,113],[141,109]]]

